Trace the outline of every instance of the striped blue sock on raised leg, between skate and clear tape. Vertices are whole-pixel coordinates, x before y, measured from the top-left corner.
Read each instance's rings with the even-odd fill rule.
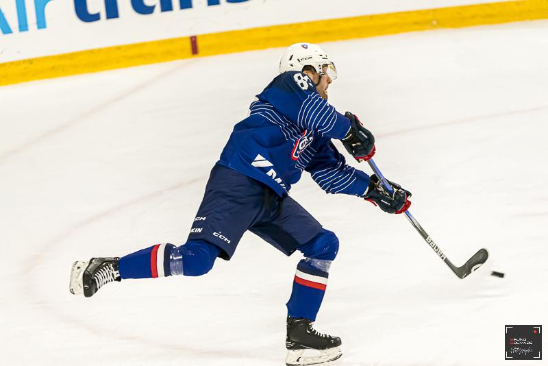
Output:
[[[169,256],[173,248],[173,244],[156,244],[123,256],[118,264],[120,277],[125,280],[171,276]]]

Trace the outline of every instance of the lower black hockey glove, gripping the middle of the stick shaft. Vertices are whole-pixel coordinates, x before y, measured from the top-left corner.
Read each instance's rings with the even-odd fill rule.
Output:
[[[366,193],[362,196],[366,201],[379,206],[384,212],[395,214],[406,212],[409,206],[411,206],[411,201],[409,200],[409,197],[411,197],[410,191],[401,188],[397,183],[388,181],[393,189],[393,193],[388,193],[377,175],[373,174],[370,178],[369,188],[367,188]]]

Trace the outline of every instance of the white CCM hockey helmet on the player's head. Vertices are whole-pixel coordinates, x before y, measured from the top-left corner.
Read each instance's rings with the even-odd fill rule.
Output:
[[[329,75],[331,80],[337,78],[335,64],[329,60],[327,53],[314,43],[295,43],[290,45],[279,59],[279,73],[286,71],[303,71],[304,66],[312,66],[319,75]]]

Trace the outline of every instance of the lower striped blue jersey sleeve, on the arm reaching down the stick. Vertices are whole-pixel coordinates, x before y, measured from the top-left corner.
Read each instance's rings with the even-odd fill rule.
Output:
[[[369,175],[347,165],[331,141],[321,145],[305,170],[327,193],[361,197],[369,186]]]

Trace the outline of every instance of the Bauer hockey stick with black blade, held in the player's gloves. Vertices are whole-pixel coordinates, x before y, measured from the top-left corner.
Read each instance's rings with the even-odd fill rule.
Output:
[[[369,162],[369,166],[371,167],[371,169],[373,169],[377,177],[381,180],[384,188],[388,189],[388,192],[393,193],[392,186],[390,186],[390,184],[388,183],[388,180],[386,180],[386,178],[384,178],[384,175],[382,175],[381,171],[379,171],[379,168],[377,167],[377,164],[375,164],[373,159],[369,159],[367,162]],[[466,276],[468,276],[470,273],[472,273],[473,271],[481,267],[486,262],[489,254],[487,252],[487,249],[482,248],[482,249],[479,249],[477,253],[472,256],[472,258],[470,258],[466,263],[464,263],[462,267],[455,267],[455,265],[451,263],[451,260],[449,260],[449,258],[447,258],[447,256],[442,252],[441,248],[438,247],[436,243],[434,243],[432,238],[430,238],[430,236],[427,234],[427,232],[425,232],[422,226],[419,225],[419,222],[416,221],[413,215],[411,215],[411,212],[407,210],[405,213],[411,225],[414,226],[416,231],[418,231],[419,234],[421,234],[421,236],[426,241],[426,243],[428,243],[428,245],[430,245],[430,247],[434,249],[434,252],[436,252],[436,254],[440,256],[440,258],[445,262],[446,265],[449,266],[449,268],[451,268],[451,271],[453,271],[453,273],[455,273],[458,278],[465,278]]]

